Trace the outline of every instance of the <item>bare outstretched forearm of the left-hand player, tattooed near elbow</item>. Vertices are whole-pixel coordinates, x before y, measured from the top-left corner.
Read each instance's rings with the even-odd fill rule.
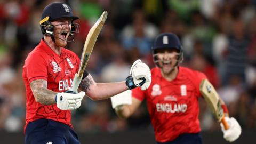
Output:
[[[92,100],[101,100],[110,98],[113,95],[127,90],[127,86],[125,82],[96,83],[89,74],[81,81],[79,89],[84,91]]]

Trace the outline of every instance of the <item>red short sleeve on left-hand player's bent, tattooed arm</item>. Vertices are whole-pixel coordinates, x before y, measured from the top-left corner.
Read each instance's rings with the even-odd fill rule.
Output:
[[[47,63],[41,55],[31,55],[26,62],[29,83],[36,79],[45,79],[47,81]]]

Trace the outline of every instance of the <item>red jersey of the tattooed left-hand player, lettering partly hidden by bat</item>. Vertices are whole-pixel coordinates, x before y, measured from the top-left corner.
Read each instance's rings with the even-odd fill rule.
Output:
[[[23,66],[23,81],[26,86],[26,126],[36,119],[46,118],[58,121],[72,127],[71,111],[60,110],[56,104],[41,105],[35,101],[30,89],[30,82],[36,79],[47,81],[47,89],[63,92],[71,88],[73,77],[79,68],[79,58],[74,52],[61,47],[61,54],[55,53],[43,39],[28,54]]]

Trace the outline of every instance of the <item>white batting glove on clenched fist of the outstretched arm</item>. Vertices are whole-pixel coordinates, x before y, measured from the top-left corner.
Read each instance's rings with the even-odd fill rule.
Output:
[[[130,75],[132,75],[134,85],[137,87],[140,86],[141,90],[148,89],[151,84],[150,69],[146,63],[141,62],[140,59],[132,64]]]

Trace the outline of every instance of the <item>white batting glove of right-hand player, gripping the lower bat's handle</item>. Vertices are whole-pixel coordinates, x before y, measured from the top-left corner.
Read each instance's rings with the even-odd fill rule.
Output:
[[[229,142],[233,142],[239,138],[242,132],[241,126],[239,125],[239,123],[236,121],[234,117],[231,117],[231,118],[225,117],[225,119],[229,125],[229,129],[225,130],[223,124],[220,123],[221,130],[223,132],[223,138]]]

